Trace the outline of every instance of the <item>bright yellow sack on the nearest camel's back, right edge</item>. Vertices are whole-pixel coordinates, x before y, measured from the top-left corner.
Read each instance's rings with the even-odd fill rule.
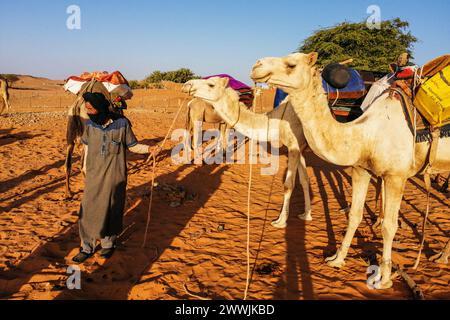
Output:
[[[450,65],[421,85],[414,104],[433,127],[450,123]]]

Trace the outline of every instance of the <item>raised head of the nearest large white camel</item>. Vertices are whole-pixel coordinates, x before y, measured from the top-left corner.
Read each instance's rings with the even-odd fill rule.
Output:
[[[311,82],[311,74],[318,54],[293,53],[282,58],[263,58],[253,66],[252,79],[267,83],[291,93],[306,89]]]

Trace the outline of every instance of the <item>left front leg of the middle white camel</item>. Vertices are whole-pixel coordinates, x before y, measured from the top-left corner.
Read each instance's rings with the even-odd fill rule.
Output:
[[[284,201],[283,209],[279,218],[272,222],[272,226],[279,229],[287,227],[287,220],[289,218],[289,205],[291,203],[292,192],[295,188],[295,179],[297,177],[297,167],[299,165],[300,151],[289,150],[288,170],[286,180],[284,182]]]

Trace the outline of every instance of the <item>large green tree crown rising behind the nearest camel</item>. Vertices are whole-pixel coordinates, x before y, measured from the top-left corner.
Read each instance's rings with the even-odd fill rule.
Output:
[[[359,70],[388,72],[389,64],[400,54],[412,55],[417,38],[409,31],[409,23],[399,18],[383,21],[380,29],[369,29],[366,22],[344,22],[320,29],[307,38],[299,52],[319,53],[319,65],[354,59],[352,67]]]

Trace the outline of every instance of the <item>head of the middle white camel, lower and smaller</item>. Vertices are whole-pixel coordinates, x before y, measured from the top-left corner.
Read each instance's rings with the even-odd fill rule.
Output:
[[[230,79],[219,77],[191,80],[184,84],[183,92],[213,103],[220,100],[225,95],[229,82]]]

